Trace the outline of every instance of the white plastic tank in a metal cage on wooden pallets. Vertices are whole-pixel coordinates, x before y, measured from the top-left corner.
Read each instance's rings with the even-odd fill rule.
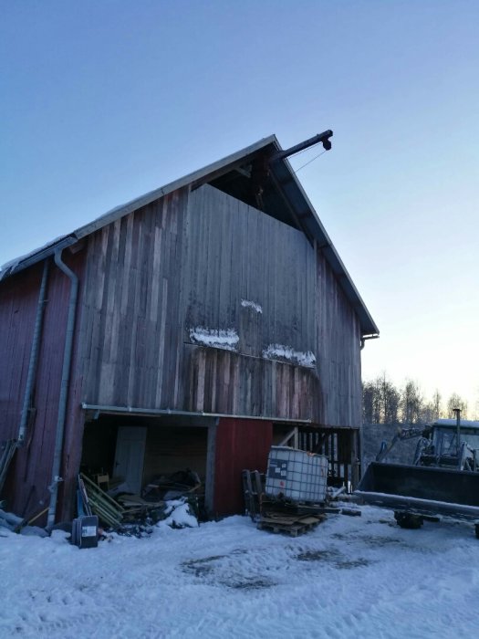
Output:
[[[268,456],[266,495],[294,501],[325,500],[328,457],[287,446],[272,446]]]

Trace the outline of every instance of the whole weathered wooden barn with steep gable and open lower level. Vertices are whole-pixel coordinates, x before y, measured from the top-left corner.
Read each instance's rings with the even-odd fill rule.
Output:
[[[370,313],[275,136],[3,267],[2,497],[74,514],[80,467],[186,467],[213,514],[294,437],[354,480]]]

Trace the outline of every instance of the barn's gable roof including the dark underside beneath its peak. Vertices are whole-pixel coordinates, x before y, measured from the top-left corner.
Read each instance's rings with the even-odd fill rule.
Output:
[[[142,206],[151,204],[151,202],[184,186],[191,185],[192,188],[196,188],[203,183],[213,183],[213,185],[225,191],[234,189],[234,192],[239,194],[239,199],[244,199],[245,183],[251,178],[251,171],[248,172],[248,169],[251,169],[252,162],[256,162],[259,158],[262,158],[263,161],[266,159],[266,162],[268,162],[268,158],[272,158],[274,153],[279,151],[282,151],[282,148],[276,139],[276,135],[270,135],[247,146],[242,151],[226,156],[223,160],[213,162],[203,167],[203,169],[185,175],[179,180],[154,189],[127,204],[116,206],[106,214],[100,215],[97,219],[89,222],[89,224],[80,226],[72,233],[57,237],[57,239],[52,240],[47,245],[6,263],[1,267],[0,279],[8,278],[46,257],[54,255],[57,250],[73,246],[82,237],[89,236],[103,226],[120,219],[120,217],[129,215]],[[326,229],[321,224],[318,214],[309,202],[307,194],[297,180],[296,173],[286,158],[277,160],[273,158],[271,162],[268,162],[268,184],[266,199],[269,201],[269,207],[274,209],[275,212],[280,211],[277,215],[275,213],[275,216],[287,224],[294,225],[302,230],[310,241],[316,240],[317,246],[321,249],[336,278],[338,278],[339,285],[347,299],[349,299],[349,303],[358,314],[361,334],[363,336],[379,335],[378,327],[371,318],[369,310],[366,308],[346,267],[338,256],[338,252],[331,242]]]

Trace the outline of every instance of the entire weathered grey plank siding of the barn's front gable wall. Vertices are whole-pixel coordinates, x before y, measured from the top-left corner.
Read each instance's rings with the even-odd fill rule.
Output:
[[[99,230],[88,256],[85,402],[359,426],[359,320],[296,229],[204,185]],[[234,331],[234,351],[195,329]],[[265,359],[272,344],[316,366]]]

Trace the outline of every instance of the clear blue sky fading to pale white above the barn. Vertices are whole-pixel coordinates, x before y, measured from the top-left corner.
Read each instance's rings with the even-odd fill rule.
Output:
[[[477,0],[1,0],[0,263],[272,132],[332,129],[298,177],[380,326],[363,376],[473,416],[478,26]]]

